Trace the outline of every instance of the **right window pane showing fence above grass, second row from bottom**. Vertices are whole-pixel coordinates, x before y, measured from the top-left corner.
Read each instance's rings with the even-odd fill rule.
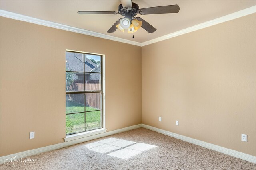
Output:
[[[101,93],[87,93],[86,111],[101,110]]]

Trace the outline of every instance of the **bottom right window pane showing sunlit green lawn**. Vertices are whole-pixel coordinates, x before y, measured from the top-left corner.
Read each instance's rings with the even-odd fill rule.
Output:
[[[86,113],[86,131],[95,128],[101,128],[101,111],[92,111]]]

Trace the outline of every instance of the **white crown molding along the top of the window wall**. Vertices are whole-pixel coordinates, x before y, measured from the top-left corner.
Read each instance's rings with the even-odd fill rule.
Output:
[[[35,23],[35,24],[38,24],[38,25],[44,25],[46,27],[52,27],[52,28],[62,29],[62,30],[65,30],[65,31],[71,31],[71,32],[80,33],[80,34],[84,34],[84,35],[90,35],[90,36],[93,36],[93,37],[109,39],[109,40],[112,40],[112,41],[118,41],[118,42],[121,42],[121,43],[137,45],[137,46],[141,47],[141,43],[139,43],[139,42],[130,41],[130,40],[127,40],[127,39],[122,39],[122,38],[114,37],[114,36],[111,36],[111,35],[105,35],[105,34],[102,34],[102,33],[96,33],[96,32],[93,32],[93,31],[88,31],[86,29],[70,27],[68,25],[62,25],[62,24],[54,23],[54,22],[50,22],[50,21],[40,20],[40,19],[37,19],[37,18],[24,16],[24,15],[21,15],[21,14],[8,12],[8,11],[5,11],[5,10],[0,10],[0,16],[6,17],[6,18],[12,18],[14,20],[20,20],[20,21]]]

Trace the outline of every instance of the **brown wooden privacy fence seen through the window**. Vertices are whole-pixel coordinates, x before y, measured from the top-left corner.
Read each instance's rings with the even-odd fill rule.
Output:
[[[84,83],[72,83],[70,89],[75,89],[75,91],[83,91]],[[86,83],[85,90],[94,91],[101,90],[100,83]],[[72,102],[76,102],[84,105],[84,94],[68,94],[66,99]],[[96,109],[101,109],[101,93],[87,93],[86,94],[86,106],[94,107]]]

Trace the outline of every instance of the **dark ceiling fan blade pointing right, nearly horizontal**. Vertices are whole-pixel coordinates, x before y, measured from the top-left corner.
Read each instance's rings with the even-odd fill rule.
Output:
[[[180,7],[178,5],[167,5],[167,6],[155,6],[150,8],[139,9],[139,14],[167,14],[167,13],[178,13]]]

